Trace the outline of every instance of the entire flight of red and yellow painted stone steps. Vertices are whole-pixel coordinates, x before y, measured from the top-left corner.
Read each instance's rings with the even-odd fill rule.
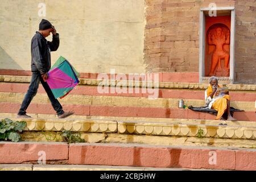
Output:
[[[33,166],[38,152],[44,151],[47,164],[68,165],[67,170],[78,169],[69,166],[77,164],[256,170],[255,85],[228,85],[232,106],[245,110],[234,113],[236,122],[215,121],[212,114],[177,107],[180,98],[186,105],[203,106],[205,84],[160,82],[159,97],[152,100],[143,88],[138,93],[99,93],[99,81],[90,78],[82,78],[60,100],[64,110],[75,115],[57,119],[40,85],[27,110],[33,118],[16,119],[30,77],[0,76],[0,81],[0,118],[27,122],[24,142],[0,142],[0,163]],[[62,143],[63,130],[81,133],[87,143]],[[216,155],[217,161],[210,159]]]

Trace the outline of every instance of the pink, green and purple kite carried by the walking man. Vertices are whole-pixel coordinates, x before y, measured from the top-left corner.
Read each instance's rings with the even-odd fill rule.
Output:
[[[67,59],[60,56],[48,72],[46,80],[55,98],[63,98],[79,84],[79,73]]]

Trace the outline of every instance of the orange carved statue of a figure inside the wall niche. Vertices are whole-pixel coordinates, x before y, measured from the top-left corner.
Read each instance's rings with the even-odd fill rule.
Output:
[[[229,76],[229,52],[225,51],[224,45],[230,44],[230,32],[224,32],[221,27],[214,28],[208,34],[208,44],[215,46],[209,76],[214,75],[215,71],[216,76]],[[222,59],[225,60],[224,68],[221,68]]]

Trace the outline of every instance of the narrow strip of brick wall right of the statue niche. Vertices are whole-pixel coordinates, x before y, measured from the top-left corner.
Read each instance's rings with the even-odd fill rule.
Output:
[[[236,2],[236,81],[256,84],[256,1]]]

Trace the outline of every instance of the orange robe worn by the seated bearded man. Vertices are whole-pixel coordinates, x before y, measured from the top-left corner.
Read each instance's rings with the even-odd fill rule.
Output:
[[[220,88],[219,85],[218,88]],[[207,89],[207,96],[209,97],[210,94],[212,94],[212,86],[208,86]],[[225,94],[224,96],[222,96],[221,98],[217,98],[217,100],[213,102],[212,109],[218,111],[217,117],[215,119],[220,119],[225,113],[228,107],[228,101],[230,101],[230,96],[228,94]]]

